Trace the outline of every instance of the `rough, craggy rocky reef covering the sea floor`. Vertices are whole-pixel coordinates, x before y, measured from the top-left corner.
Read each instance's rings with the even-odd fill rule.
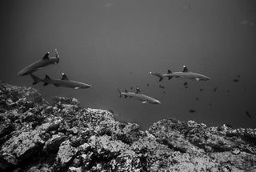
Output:
[[[0,171],[256,171],[256,130],[164,119],[149,130],[75,98],[0,85]]]

